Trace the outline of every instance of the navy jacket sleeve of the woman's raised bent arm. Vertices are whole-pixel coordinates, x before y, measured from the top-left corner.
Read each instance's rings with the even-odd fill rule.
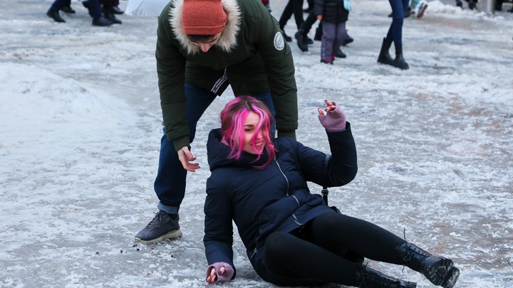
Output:
[[[298,161],[306,181],[321,186],[343,186],[353,181],[358,171],[356,144],[351,133],[351,124],[346,122],[346,130],[326,132],[331,149],[331,157],[299,144]]]

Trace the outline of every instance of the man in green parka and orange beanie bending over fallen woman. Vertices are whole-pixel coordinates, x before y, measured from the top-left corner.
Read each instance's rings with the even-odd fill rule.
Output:
[[[291,49],[260,0],[170,1],[158,19],[155,56],[165,135],[155,178],[159,212],[135,236],[144,243],[182,235],[187,171],[199,169],[190,143],[199,118],[228,85],[235,96],[266,103],[278,137],[295,139],[298,127]]]

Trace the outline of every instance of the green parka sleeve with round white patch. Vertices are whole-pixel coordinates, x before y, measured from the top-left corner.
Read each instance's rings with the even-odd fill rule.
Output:
[[[249,2],[252,1],[247,3]],[[247,9],[253,7],[246,4],[244,6]],[[264,61],[267,81],[276,110],[276,130],[278,130],[279,136],[289,136],[295,139],[295,130],[298,128],[298,107],[291,48],[284,40],[278,22],[269,11],[261,4],[253,9],[256,11],[247,11],[246,15],[257,16],[251,21],[248,20],[247,25],[251,23],[249,35]]]

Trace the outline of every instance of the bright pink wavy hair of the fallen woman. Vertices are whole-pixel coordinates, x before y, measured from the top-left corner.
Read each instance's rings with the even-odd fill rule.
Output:
[[[272,114],[269,108],[254,97],[241,96],[235,97],[234,100],[227,103],[221,112],[221,130],[224,139],[227,141],[229,146],[232,148],[230,151],[229,158],[239,159],[244,149],[245,132],[244,132],[244,121],[246,120],[249,112],[257,113],[260,116],[260,121],[256,131],[261,130],[262,138],[264,138],[265,149],[269,155],[269,159],[261,166],[254,166],[255,168],[264,168],[274,159],[276,152],[274,151],[274,144],[271,142],[269,132],[271,131]],[[254,134],[252,139],[252,146],[255,151],[257,140],[257,133]],[[260,159],[261,154],[258,154],[257,161]]]

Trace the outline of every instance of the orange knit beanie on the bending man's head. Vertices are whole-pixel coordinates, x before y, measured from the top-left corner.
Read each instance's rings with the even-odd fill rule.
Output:
[[[182,26],[187,35],[216,35],[227,19],[221,0],[184,0]]]

